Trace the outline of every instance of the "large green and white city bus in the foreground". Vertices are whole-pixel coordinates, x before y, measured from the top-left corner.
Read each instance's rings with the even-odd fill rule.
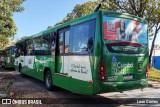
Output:
[[[99,94],[148,86],[148,23],[98,10],[16,43],[16,70],[48,90]]]

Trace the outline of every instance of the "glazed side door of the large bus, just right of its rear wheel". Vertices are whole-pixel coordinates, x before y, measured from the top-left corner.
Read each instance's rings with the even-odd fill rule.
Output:
[[[55,85],[64,89],[69,89],[69,76],[68,76],[68,46],[69,46],[69,30],[63,29],[58,32],[57,43],[57,57],[56,57],[56,73],[54,82]]]

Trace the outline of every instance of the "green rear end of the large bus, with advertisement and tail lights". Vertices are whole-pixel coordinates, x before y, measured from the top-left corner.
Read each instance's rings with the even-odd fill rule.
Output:
[[[148,85],[147,23],[117,16],[103,15],[97,93],[122,92]]]

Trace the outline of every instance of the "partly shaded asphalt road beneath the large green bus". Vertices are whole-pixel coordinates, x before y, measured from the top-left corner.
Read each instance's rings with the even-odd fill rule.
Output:
[[[22,78],[16,71],[6,71],[5,69],[0,68],[0,78],[4,77],[14,79],[8,93],[8,96],[11,98],[46,98],[51,100],[53,103],[52,105],[63,107],[160,106],[160,87],[158,87],[160,86],[159,83],[157,83],[155,87],[148,87],[143,89],[143,91],[137,89],[124,91],[123,93],[114,92],[99,95],[82,95],[72,93],[61,88],[58,88],[56,91],[47,91],[42,81],[31,77]],[[157,104],[157,102],[159,104]],[[45,106],[49,105],[43,105],[42,107]]]

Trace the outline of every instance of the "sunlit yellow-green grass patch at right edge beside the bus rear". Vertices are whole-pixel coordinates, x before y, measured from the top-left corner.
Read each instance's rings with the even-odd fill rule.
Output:
[[[149,80],[160,81],[160,70],[157,70],[154,67],[151,67],[148,73],[148,77],[149,77]]]

